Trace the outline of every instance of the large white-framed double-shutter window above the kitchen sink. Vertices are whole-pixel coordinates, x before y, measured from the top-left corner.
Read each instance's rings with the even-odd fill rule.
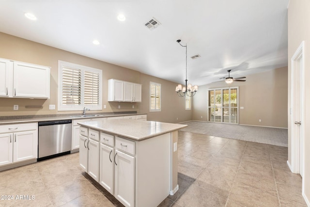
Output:
[[[58,62],[58,110],[102,110],[102,70]]]

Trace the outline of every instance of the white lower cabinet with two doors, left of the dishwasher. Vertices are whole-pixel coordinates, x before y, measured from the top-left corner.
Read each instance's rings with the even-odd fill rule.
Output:
[[[0,126],[0,166],[37,158],[37,123]]]

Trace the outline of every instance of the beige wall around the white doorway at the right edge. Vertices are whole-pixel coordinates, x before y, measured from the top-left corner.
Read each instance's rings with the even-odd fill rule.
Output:
[[[288,107],[291,109],[291,58],[293,57],[295,51],[299,47],[302,41],[305,41],[305,53],[304,53],[304,63],[305,63],[305,123],[302,123],[305,128],[305,140],[304,140],[304,196],[310,205],[310,0],[290,0],[288,7]],[[291,123],[296,120],[291,119],[290,110],[288,110],[288,133],[289,133],[289,143],[288,143],[288,161],[292,163],[291,160]]]

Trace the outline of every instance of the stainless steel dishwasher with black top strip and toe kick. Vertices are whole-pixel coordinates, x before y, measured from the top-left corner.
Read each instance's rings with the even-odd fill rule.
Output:
[[[38,161],[70,154],[72,120],[39,122]]]

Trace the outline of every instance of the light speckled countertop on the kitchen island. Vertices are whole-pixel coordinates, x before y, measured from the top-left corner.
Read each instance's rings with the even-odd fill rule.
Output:
[[[82,127],[92,128],[109,134],[128,138],[133,141],[142,141],[162,134],[179,130],[187,125],[171,124],[155,121],[133,119],[113,119],[102,121],[78,122]]]

